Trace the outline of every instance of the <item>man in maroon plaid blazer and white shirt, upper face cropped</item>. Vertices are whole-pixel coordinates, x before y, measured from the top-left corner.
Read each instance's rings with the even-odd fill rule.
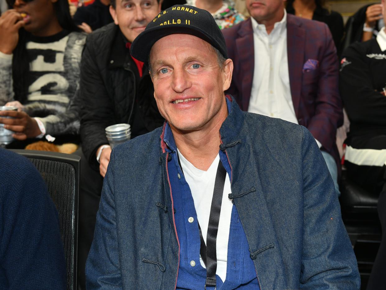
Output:
[[[283,0],[245,3],[251,18],[223,30],[228,56],[234,61],[227,92],[244,111],[310,130],[339,194],[335,135],[343,113],[330,30],[324,23],[286,14]]]

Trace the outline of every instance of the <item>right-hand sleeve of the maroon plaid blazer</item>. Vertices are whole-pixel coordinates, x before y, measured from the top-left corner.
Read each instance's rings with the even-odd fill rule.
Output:
[[[339,96],[338,56],[328,26],[323,27],[324,43],[319,59],[315,113],[310,118],[307,129],[330,152],[335,146],[337,128],[343,124],[343,111]],[[303,80],[304,77],[303,73]]]

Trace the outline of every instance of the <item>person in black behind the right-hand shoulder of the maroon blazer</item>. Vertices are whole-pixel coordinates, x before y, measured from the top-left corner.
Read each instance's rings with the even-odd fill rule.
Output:
[[[338,12],[326,9],[325,0],[288,0],[286,10],[289,14],[327,24],[335,47],[338,53],[340,52],[344,32],[343,18]]]

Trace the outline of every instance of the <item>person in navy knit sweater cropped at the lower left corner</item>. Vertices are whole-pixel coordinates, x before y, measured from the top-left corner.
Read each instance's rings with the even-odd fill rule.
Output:
[[[67,289],[59,218],[34,165],[0,148],[0,289]]]

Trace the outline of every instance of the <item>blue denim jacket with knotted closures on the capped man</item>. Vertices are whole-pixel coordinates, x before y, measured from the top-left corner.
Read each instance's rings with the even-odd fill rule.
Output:
[[[311,133],[242,112],[232,101],[220,136],[231,168],[229,198],[260,288],[359,289],[334,183]],[[184,261],[170,154],[164,128],[113,149],[86,263],[88,290],[176,289]]]

